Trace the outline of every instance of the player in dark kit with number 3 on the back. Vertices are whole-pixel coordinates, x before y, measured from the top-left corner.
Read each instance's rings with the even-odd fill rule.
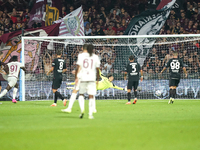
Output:
[[[139,73],[141,73],[140,80],[143,81],[143,71],[140,67],[140,64],[137,61],[134,61],[134,56],[129,56],[129,64],[126,67],[124,80],[126,80],[126,76],[128,74],[128,84],[127,84],[127,95],[128,102],[126,104],[131,104],[131,90],[133,88],[135,99],[133,104],[137,102],[137,87],[139,84]]]

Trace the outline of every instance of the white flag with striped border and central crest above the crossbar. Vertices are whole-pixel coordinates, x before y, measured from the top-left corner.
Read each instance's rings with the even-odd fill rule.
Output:
[[[55,23],[61,23],[59,36],[84,36],[82,6],[69,13],[64,18],[55,21]]]

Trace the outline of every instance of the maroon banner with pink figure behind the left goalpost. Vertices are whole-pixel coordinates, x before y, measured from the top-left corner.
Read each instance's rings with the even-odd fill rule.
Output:
[[[37,29],[28,29],[24,33],[25,36],[57,36],[59,33],[60,24],[54,24],[47,27],[41,27]],[[16,31],[12,33],[6,33],[0,37],[0,50],[4,54],[4,59],[2,62],[9,62],[10,58],[13,55],[18,56],[18,61],[20,61],[20,52],[21,52],[21,36],[22,31]],[[39,56],[42,49],[43,42],[26,40],[25,41],[25,67],[28,71],[34,72]],[[46,45],[47,46],[47,45]]]

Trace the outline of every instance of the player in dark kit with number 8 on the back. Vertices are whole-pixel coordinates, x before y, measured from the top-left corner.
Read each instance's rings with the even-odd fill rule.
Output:
[[[59,97],[62,101],[64,106],[66,106],[67,99],[64,99],[64,97],[58,92],[58,88],[60,88],[62,84],[62,73],[66,72],[66,63],[64,59],[61,58],[62,51],[57,51],[57,58],[53,60],[52,68],[49,72],[47,72],[47,75],[49,75],[50,72],[53,71],[53,84],[52,84],[52,90],[54,93],[54,103],[51,106],[57,106],[57,98]]]

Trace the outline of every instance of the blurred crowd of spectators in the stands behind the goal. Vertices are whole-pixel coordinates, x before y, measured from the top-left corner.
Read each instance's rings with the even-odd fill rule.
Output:
[[[96,35],[123,35],[130,20],[136,15],[148,9],[149,0],[62,0],[62,16],[72,12],[82,5],[83,19],[86,36]],[[171,13],[162,27],[160,34],[200,34],[200,2],[195,0],[183,0],[183,7],[178,12]],[[29,12],[35,0],[0,0],[0,36],[27,29]],[[41,27],[40,23],[34,23],[32,28]],[[144,62],[143,70],[147,74],[160,72],[164,64],[172,57],[171,50],[179,51],[179,57],[184,61],[189,73],[200,72],[199,41],[174,43],[173,45],[162,44],[166,39],[155,45]],[[81,47],[67,47],[64,58],[69,70],[73,70]],[[101,59],[102,72],[114,73],[114,61],[117,51],[114,47],[105,46],[96,52]],[[51,57],[53,54],[43,52],[42,57]],[[43,68],[44,61],[41,60],[38,68]],[[148,75],[148,76],[150,76]],[[149,77],[151,78],[151,77]]]

